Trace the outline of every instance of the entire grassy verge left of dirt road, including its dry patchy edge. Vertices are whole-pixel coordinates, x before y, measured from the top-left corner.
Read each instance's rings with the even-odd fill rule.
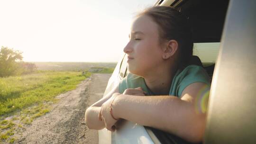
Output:
[[[51,111],[56,95],[73,90],[90,72],[45,71],[0,78],[0,143],[14,143],[17,129]]]

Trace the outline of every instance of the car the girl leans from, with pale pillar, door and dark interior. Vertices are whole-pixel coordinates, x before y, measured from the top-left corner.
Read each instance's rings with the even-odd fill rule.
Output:
[[[157,5],[172,6],[188,16],[194,43],[205,43],[206,47],[208,43],[218,44],[217,60],[202,61],[212,76],[204,143],[256,143],[256,1],[157,0]],[[207,50],[201,54],[211,53]],[[124,55],[104,95],[127,75],[126,61]],[[171,141],[172,136],[160,130],[132,122],[113,133],[99,131],[99,144],[173,144]]]

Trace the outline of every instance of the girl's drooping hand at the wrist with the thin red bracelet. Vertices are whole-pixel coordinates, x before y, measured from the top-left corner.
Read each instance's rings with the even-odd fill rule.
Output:
[[[117,122],[117,120],[115,120],[110,114],[110,104],[118,95],[120,95],[120,93],[114,93],[110,99],[104,102],[101,106],[101,111],[98,115],[99,120],[103,121],[105,127],[112,132],[115,131],[116,129],[115,123]],[[115,118],[119,119],[118,117]]]

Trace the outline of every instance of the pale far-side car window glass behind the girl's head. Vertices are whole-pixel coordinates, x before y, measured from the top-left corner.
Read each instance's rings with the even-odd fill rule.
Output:
[[[197,55],[204,66],[216,62],[220,43],[194,43],[193,55]]]

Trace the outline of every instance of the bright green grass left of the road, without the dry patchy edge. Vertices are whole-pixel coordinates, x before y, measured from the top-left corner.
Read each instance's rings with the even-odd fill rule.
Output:
[[[41,72],[0,78],[0,116],[53,101],[56,95],[75,89],[89,76],[89,72]]]

